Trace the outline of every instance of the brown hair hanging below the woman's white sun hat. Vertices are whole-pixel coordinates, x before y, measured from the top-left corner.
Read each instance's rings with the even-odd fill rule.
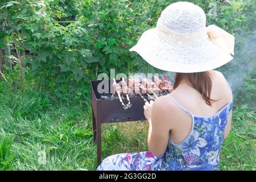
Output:
[[[205,102],[212,106],[210,93],[212,92],[212,80],[210,79],[209,72],[198,73],[176,73],[174,81],[174,89],[179,86],[181,80],[185,80],[192,88],[196,89],[203,96]]]

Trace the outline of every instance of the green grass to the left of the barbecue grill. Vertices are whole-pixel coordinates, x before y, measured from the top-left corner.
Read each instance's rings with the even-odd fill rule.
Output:
[[[40,89],[0,89],[0,139],[13,138],[9,169],[96,168],[89,108],[80,102],[81,94],[65,93],[60,100]],[[38,162],[42,152],[46,164]]]

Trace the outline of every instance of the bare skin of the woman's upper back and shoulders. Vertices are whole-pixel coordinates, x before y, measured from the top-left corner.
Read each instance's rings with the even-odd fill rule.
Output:
[[[212,106],[207,105],[202,95],[185,82],[180,84],[171,94],[161,99],[166,108],[172,108],[170,112],[165,112],[167,114],[165,117],[172,120],[170,122],[170,128],[172,128],[170,136],[175,143],[183,141],[191,131],[191,114],[211,116],[218,113],[232,101],[232,92],[222,73],[217,71],[209,71],[209,73],[212,76],[211,98],[216,100]],[[186,113],[185,110],[191,114]]]

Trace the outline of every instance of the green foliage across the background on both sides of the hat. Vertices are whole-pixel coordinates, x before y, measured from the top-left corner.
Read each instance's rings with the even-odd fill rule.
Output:
[[[143,31],[155,27],[161,11],[172,2],[177,1],[3,1],[0,39],[12,43],[17,38],[19,49],[23,43],[29,51],[23,58],[31,65],[28,71],[45,82],[88,81],[96,73],[109,73],[110,68],[125,73],[155,72],[158,70],[129,48]],[[243,74],[255,63],[255,3],[247,0],[222,6],[213,0],[191,2],[204,9],[208,24],[236,35],[235,59],[220,70],[241,82],[240,75],[232,74],[237,66]],[[213,2],[217,16],[208,14]],[[60,22],[63,20],[75,22]]]

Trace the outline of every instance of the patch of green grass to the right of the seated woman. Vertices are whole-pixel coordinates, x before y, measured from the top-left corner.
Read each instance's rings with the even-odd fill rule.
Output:
[[[221,169],[256,169],[256,115],[247,105],[233,111],[232,130],[221,152]]]

